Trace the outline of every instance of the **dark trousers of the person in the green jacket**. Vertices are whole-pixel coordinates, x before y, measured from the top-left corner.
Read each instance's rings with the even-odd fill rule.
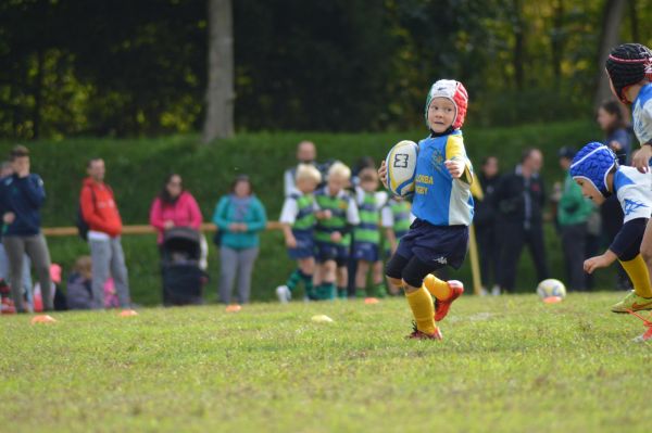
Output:
[[[575,291],[587,290],[584,260],[587,251],[587,224],[562,226],[562,247],[568,288]]]

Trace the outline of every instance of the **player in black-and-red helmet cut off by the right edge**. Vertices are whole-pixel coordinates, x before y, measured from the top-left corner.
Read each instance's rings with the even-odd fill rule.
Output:
[[[612,50],[605,64],[613,93],[631,107],[634,132],[641,149],[631,164],[649,173],[652,157],[652,51],[640,43],[624,43]],[[649,216],[649,215],[648,215]],[[648,222],[640,245],[641,255],[652,275],[652,224]]]

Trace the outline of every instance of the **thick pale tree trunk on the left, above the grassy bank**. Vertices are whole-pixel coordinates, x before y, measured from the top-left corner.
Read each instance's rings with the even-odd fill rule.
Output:
[[[234,135],[234,37],[230,0],[209,0],[208,60],[204,143]]]

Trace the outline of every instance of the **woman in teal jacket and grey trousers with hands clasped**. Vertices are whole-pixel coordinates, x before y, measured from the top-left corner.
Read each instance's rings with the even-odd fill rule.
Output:
[[[265,229],[265,207],[253,194],[247,176],[238,176],[231,192],[220,199],[213,222],[217,226],[215,243],[220,246],[220,302],[230,304],[236,277],[237,302],[247,304],[251,293],[251,273],[259,255],[259,232]]]

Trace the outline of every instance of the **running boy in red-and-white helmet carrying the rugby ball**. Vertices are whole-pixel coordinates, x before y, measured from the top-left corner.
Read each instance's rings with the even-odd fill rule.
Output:
[[[436,321],[446,317],[451,303],[464,292],[460,281],[447,282],[429,273],[446,265],[460,268],[468,249],[473,166],[460,130],[467,105],[464,86],[448,79],[435,82],[426,100],[430,136],[418,144],[412,204],[416,220],[387,264],[387,277],[405,291],[416,322],[410,339],[441,340]],[[385,164],[378,174],[387,186]]]

